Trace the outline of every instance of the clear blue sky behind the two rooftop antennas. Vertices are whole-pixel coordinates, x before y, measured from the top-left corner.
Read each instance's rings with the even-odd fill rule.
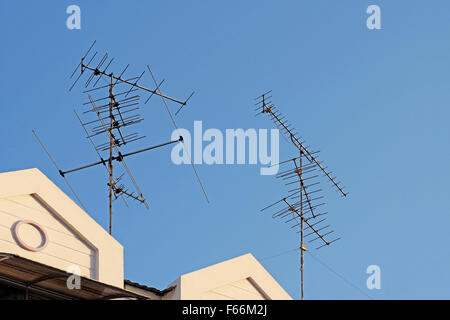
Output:
[[[342,236],[312,253],[375,299],[449,298],[450,3],[435,1],[5,1],[0,171],[37,167],[70,195],[35,141],[38,131],[63,169],[96,160],[73,114],[85,100],[68,76],[94,39],[130,74],[150,64],[164,92],[196,94],[178,117],[192,130],[270,128],[253,117],[253,98],[274,101],[348,187],[327,193]],[[81,30],[66,8],[81,7]],[[382,30],[366,28],[370,4]],[[117,72],[117,71],[116,71]],[[146,77],[143,84],[150,85]],[[173,105],[172,108],[175,108]],[[167,141],[172,126],[160,100],[142,113],[147,139]],[[291,150],[282,145],[281,157]],[[134,149],[134,148],[132,148]],[[299,297],[298,237],[259,209],[284,193],[257,165],[199,165],[211,204],[171,148],[128,161],[151,210],[117,203],[113,234],[125,249],[125,276],[158,288],[180,274],[251,252]],[[107,228],[106,174],[69,177],[92,217]],[[328,184],[325,184],[329,186]],[[365,287],[381,268],[381,290]],[[307,299],[365,299],[306,255]]]

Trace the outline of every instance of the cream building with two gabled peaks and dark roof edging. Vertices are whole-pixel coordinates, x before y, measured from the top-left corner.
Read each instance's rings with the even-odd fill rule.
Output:
[[[251,254],[158,290],[124,279],[123,250],[38,169],[0,174],[0,299],[291,299]]]

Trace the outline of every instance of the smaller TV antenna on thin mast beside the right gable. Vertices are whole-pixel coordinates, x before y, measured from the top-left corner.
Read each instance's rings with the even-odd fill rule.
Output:
[[[323,202],[324,196],[321,195],[322,189],[319,186],[320,175],[322,174],[326,180],[331,182],[342,196],[346,197],[348,193],[344,191],[344,187],[341,187],[340,182],[336,181],[333,172],[328,171],[328,168],[317,159],[320,151],[312,151],[310,146],[306,146],[305,141],[299,138],[298,133],[295,132],[286,117],[272,103],[271,92],[268,91],[255,99],[256,115],[268,115],[285,140],[295,147],[298,156],[273,165],[287,167],[279,172],[276,178],[282,180],[286,186],[290,187],[290,190],[287,195],[261,211],[275,210],[273,218],[284,219],[286,223],[291,224],[291,228],[297,229],[297,233],[300,234],[300,296],[303,300],[305,240],[316,245],[316,249],[320,249],[340,239],[333,237],[334,230],[331,230],[330,225],[325,222],[326,217],[324,216],[328,212],[323,211],[325,202]]]

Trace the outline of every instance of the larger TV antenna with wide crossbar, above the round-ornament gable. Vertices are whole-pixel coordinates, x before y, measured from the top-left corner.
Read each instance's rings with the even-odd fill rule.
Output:
[[[173,102],[179,106],[177,114],[181,109],[186,106],[187,102],[190,100],[194,92],[192,92],[189,97],[184,100],[178,100],[169,97],[161,92],[161,85],[164,80],[157,82],[153,72],[147,65],[147,70],[144,70],[139,76],[125,77],[124,74],[127,71],[129,64],[120,72],[119,75],[112,71],[108,71],[108,68],[114,61],[114,58],[110,58],[108,53],[105,53],[101,58],[98,55],[98,51],[93,52],[93,48],[96,41],[87,50],[86,54],[81,58],[80,63],[77,65],[73,71],[70,79],[74,78],[69,91],[75,87],[75,85],[82,79],[83,75],[86,75],[86,80],[84,83],[83,93],[87,95],[86,101],[83,103],[82,116],[74,110],[77,119],[79,120],[84,132],[86,133],[86,138],[90,141],[94,150],[98,156],[98,161],[88,163],[86,165],[73,168],[70,170],[61,170],[56,164],[54,158],[50,155],[47,148],[44,146],[42,141],[39,139],[37,134],[33,131],[34,135],[38,139],[39,143],[42,145],[44,150],[47,152],[48,156],[52,160],[53,164],[59,171],[59,174],[64,178],[75,197],[79,200],[83,208],[83,203],[81,202],[78,195],[75,193],[72,186],[69,184],[67,175],[73,172],[81,171],[87,168],[103,165],[108,173],[108,208],[109,208],[109,233],[112,234],[112,215],[113,215],[113,201],[121,198],[125,204],[128,206],[126,199],[132,199],[139,203],[142,203],[146,209],[149,209],[147,199],[141,192],[134,175],[132,174],[130,168],[126,164],[125,158],[134,156],[136,154],[168,146],[174,143],[183,143],[183,137],[180,135],[177,140],[168,141],[160,143],[158,145],[146,147],[136,151],[125,152],[122,148],[129,145],[132,142],[141,140],[145,136],[139,135],[138,132],[128,132],[131,127],[139,124],[143,121],[143,117],[139,110],[140,95],[139,93],[148,94],[144,104],[146,104],[154,95],[161,97],[162,102],[170,115],[173,126],[178,130],[178,126],[169,109],[167,101]],[[140,83],[138,83],[145,72],[148,71],[154,83],[154,89],[149,89]],[[78,75],[76,76],[78,72]],[[75,77],[76,76],[76,77]],[[104,80],[104,84],[97,86],[100,80]],[[105,92],[106,91],[106,92]],[[82,117],[86,118],[82,120]],[[103,137],[103,140],[99,142],[98,140]],[[184,148],[184,152],[191,159],[187,148]],[[118,173],[114,164],[118,162],[124,172]],[[195,176],[200,184],[203,194],[209,203],[208,196],[206,194],[205,188],[200,180],[198,172],[192,162],[191,165],[194,170]],[[123,178],[127,177],[128,180],[133,185],[134,190],[130,190],[125,187],[123,183]]]

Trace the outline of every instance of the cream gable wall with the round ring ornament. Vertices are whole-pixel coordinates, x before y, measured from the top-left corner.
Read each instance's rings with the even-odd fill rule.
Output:
[[[76,262],[89,278],[123,288],[123,247],[38,169],[0,174],[0,210],[0,252],[64,271]],[[12,238],[11,223],[22,217],[45,225],[49,244],[41,252],[24,250]],[[32,228],[21,230],[39,241]]]

